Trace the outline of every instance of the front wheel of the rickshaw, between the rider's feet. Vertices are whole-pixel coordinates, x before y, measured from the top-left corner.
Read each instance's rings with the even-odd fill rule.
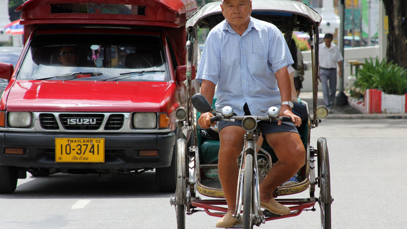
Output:
[[[251,213],[253,210],[253,156],[251,154],[247,154],[245,157],[243,185],[243,229],[253,228],[251,222]]]

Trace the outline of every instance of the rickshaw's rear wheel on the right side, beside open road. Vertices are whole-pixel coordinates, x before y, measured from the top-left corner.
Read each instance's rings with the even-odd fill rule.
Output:
[[[329,169],[329,155],[327,139],[320,137],[317,141],[318,149],[318,177],[319,198],[321,208],[321,224],[323,228],[331,228],[331,174]]]

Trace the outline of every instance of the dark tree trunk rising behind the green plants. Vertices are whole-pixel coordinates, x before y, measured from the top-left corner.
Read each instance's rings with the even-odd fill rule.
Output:
[[[407,1],[382,0],[389,18],[386,59],[407,68]]]

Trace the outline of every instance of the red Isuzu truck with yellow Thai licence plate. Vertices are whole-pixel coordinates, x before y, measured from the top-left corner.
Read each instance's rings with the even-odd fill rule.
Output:
[[[194,0],[28,0],[24,49],[0,64],[0,193],[26,171],[135,174],[176,187]],[[197,84],[194,84],[195,90]],[[185,131],[184,131],[185,132]]]

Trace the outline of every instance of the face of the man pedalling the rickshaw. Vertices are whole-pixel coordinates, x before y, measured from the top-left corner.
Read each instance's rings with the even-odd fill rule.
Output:
[[[251,1],[249,0],[224,0],[220,6],[222,14],[234,26],[241,26],[250,21]]]

